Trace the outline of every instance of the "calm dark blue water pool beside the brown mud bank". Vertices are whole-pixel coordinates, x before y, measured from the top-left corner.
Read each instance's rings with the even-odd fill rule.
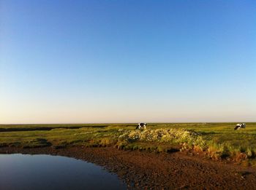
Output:
[[[0,154],[0,189],[126,189],[117,175],[78,159]]]

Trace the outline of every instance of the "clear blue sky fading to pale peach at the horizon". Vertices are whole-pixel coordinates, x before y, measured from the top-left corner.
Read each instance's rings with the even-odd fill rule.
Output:
[[[0,123],[256,122],[256,2],[0,1]]]

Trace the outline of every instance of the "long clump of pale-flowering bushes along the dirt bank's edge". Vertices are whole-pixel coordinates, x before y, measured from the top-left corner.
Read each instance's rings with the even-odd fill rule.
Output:
[[[180,151],[196,151],[205,154],[211,159],[228,159],[234,162],[242,162],[245,159],[256,157],[256,151],[250,148],[235,148],[229,142],[217,143],[214,140],[205,140],[200,133],[185,129],[157,129],[157,130],[119,130],[118,149],[129,149],[129,143],[137,141],[150,141],[157,143],[178,143]],[[121,142],[121,143],[120,143]],[[131,146],[131,150],[143,150],[140,146]],[[145,148],[145,147],[144,147]],[[152,148],[152,147],[151,147]],[[146,149],[146,148],[145,148]],[[153,148],[152,148],[153,149]],[[150,150],[152,150],[150,149]],[[154,151],[167,151],[161,146]]]

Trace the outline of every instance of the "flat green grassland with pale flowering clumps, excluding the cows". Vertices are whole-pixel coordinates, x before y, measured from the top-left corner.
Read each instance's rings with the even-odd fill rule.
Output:
[[[256,164],[256,123],[0,124],[0,147],[114,146],[117,149],[187,151],[211,159]],[[245,163],[245,162],[244,162]]]

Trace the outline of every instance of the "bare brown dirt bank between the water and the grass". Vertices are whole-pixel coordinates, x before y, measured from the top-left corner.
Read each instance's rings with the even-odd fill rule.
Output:
[[[256,168],[189,157],[114,148],[2,147],[0,154],[51,154],[83,159],[117,173],[130,189],[256,189]]]

